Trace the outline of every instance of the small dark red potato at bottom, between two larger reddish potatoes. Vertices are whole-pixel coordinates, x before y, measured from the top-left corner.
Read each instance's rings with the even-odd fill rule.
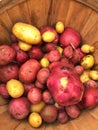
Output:
[[[58,120],[59,123],[64,124],[64,123],[68,122],[69,117],[64,110],[59,110],[57,120]]]

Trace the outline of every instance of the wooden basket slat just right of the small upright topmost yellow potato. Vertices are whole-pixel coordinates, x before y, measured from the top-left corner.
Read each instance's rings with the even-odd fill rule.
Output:
[[[75,1],[71,1],[67,13],[66,25],[81,31],[89,19],[91,12],[92,9],[81,5],[80,3],[76,3]]]

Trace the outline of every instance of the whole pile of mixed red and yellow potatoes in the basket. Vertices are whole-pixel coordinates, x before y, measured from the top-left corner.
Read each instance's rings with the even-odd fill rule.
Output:
[[[18,22],[12,44],[0,45],[0,95],[15,119],[66,123],[98,104],[94,46],[58,21],[54,27]]]

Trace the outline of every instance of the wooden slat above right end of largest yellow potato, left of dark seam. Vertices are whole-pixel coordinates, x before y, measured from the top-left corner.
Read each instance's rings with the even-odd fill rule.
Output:
[[[28,0],[31,23],[37,27],[47,25],[51,0]]]

